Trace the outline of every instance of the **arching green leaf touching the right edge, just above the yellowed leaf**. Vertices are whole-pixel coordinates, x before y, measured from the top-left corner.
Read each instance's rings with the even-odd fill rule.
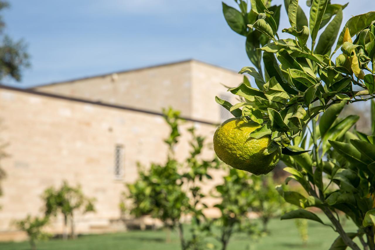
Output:
[[[337,49],[340,48],[340,46],[344,43],[344,34],[347,28],[349,29],[350,35],[353,37],[361,30],[366,29],[366,27],[370,26],[371,23],[374,22],[374,20],[375,11],[370,11],[366,14],[361,14],[350,18],[339,35],[335,51],[337,51]]]

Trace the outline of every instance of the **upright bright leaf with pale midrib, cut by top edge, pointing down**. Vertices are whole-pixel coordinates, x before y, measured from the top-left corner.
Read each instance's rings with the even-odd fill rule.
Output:
[[[312,48],[314,48],[320,24],[323,20],[324,11],[326,11],[328,0],[312,0],[310,8],[309,29],[312,39]]]

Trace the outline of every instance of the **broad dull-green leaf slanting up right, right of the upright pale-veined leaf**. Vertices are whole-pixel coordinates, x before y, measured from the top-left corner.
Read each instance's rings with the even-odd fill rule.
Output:
[[[342,22],[342,9],[338,11],[335,18],[328,24],[326,29],[320,35],[318,45],[315,48],[314,53],[325,55],[330,53],[333,44],[335,44],[337,35]]]

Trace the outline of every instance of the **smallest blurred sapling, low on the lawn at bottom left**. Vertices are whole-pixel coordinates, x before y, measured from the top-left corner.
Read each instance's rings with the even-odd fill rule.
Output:
[[[42,228],[48,223],[48,219],[48,217],[39,218],[27,215],[24,220],[16,221],[18,229],[27,233],[32,250],[36,250],[37,241],[50,238],[51,235],[42,231]]]

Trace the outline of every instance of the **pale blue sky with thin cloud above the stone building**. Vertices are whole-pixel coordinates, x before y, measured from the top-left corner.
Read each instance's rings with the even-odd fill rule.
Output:
[[[233,0],[224,2],[234,5]],[[305,1],[300,2],[308,13]],[[344,22],[351,15],[374,11],[371,2],[349,3]],[[190,58],[236,71],[251,65],[245,38],[227,26],[220,0],[11,0],[10,4],[3,11],[6,33],[24,38],[32,66],[24,71],[21,83],[3,81],[8,85],[30,87]],[[281,19],[281,28],[290,26],[284,7]]]

